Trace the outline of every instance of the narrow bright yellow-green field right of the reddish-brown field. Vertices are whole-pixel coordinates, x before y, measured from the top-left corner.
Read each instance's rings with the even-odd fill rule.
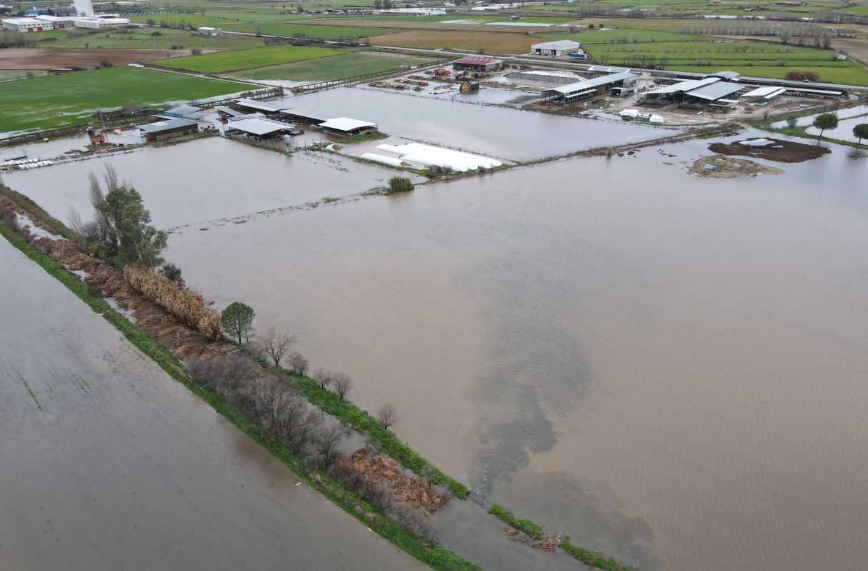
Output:
[[[173,57],[156,60],[155,64],[174,69],[192,69],[203,74],[216,74],[236,69],[260,68],[278,63],[298,62],[314,57],[336,56],[340,49],[307,46],[269,46],[267,48],[236,49],[201,56]]]

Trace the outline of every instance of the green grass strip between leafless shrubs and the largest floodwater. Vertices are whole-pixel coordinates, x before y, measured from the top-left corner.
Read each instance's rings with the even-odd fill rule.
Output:
[[[361,410],[350,401],[342,400],[332,391],[319,386],[319,383],[310,377],[295,375],[290,371],[281,370],[287,377],[293,378],[299,389],[305,394],[307,399],[318,406],[320,409],[339,418],[352,425],[360,434],[371,436],[374,443],[377,444],[379,450],[386,456],[391,456],[398,462],[404,465],[404,468],[411,469],[419,476],[424,476],[433,484],[442,484],[447,486],[453,496],[467,499],[470,495],[470,489],[463,483],[446,476],[439,469],[431,465],[422,456],[419,456],[416,451],[410,448],[407,444],[401,441],[398,436],[395,436],[388,430],[384,430],[379,425],[377,420],[365,410]]]

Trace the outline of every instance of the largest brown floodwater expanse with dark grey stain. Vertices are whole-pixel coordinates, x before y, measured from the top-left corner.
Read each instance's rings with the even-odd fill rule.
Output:
[[[580,545],[864,568],[868,161],[687,174],[709,142],[185,230],[169,257],[352,373],[358,404],[394,404],[479,498]]]

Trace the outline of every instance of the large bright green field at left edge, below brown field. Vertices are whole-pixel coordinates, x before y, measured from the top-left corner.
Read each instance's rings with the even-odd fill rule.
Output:
[[[243,83],[126,66],[43,75],[3,83],[0,133],[82,124],[101,109],[190,101],[246,89],[249,85]]]

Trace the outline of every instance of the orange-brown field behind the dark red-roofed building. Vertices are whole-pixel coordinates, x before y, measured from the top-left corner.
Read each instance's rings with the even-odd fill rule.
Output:
[[[523,34],[477,34],[459,31],[406,31],[386,36],[373,36],[371,43],[383,46],[404,46],[407,48],[450,48],[502,54],[525,54],[530,44],[539,42]]]

